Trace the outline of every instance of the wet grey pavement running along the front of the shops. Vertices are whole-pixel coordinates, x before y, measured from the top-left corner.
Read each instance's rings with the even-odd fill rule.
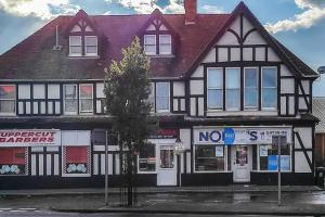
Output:
[[[104,204],[104,189],[1,190],[0,199],[4,206],[23,204],[27,196],[30,204],[43,207],[41,203],[47,203],[50,210],[62,213],[325,216],[323,189],[285,186],[282,190],[281,205],[276,186],[244,184],[138,188],[139,203],[132,207],[119,205],[118,188],[109,189],[108,206]]]

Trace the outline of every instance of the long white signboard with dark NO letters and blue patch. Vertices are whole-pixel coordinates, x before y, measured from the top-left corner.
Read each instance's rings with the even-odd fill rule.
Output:
[[[285,136],[291,143],[291,128],[203,128],[194,129],[195,144],[272,144],[273,136]]]

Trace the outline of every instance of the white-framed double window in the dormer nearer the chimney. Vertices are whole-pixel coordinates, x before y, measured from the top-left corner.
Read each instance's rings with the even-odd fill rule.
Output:
[[[171,35],[144,35],[144,52],[147,55],[172,54]]]

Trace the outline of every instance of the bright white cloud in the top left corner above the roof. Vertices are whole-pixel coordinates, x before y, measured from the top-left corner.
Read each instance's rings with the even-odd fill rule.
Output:
[[[0,10],[17,16],[50,20],[60,14],[75,14],[79,7],[68,0],[0,0]]]

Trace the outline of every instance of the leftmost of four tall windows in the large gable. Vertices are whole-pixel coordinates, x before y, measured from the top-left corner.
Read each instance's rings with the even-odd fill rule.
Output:
[[[223,76],[221,68],[208,68],[208,108],[223,107]]]

